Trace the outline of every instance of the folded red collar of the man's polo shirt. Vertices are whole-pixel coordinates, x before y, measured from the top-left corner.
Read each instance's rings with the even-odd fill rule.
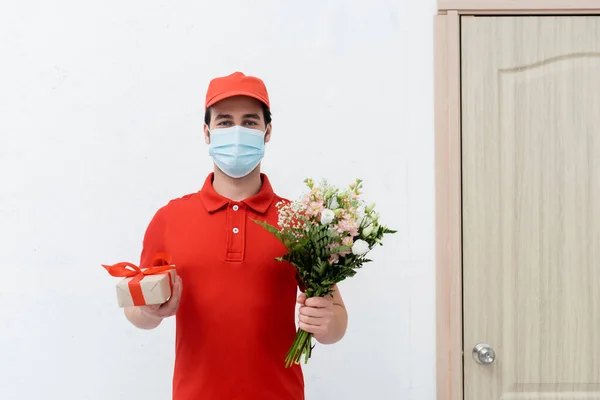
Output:
[[[225,205],[231,203],[231,200],[221,196],[219,193],[215,191],[213,188],[213,180],[214,180],[214,172],[211,172],[206,180],[204,181],[204,186],[200,190],[200,198],[206,207],[206,210],[209,213],[215,212]],[[263,173],[260,174],[260,179],[262,181],[262,185],[260,187],[260,191],[253,196],[248,197],[241,201],[254,211],[263,214],[267,211],[271,203],[273,202],[273,197],[275,193],[273,192],[273,188],[271,186],[271,182],[269,182],[269,178]]]

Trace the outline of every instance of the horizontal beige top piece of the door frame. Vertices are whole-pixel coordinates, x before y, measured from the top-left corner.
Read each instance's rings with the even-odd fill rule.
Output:
[[[600,12],[600,0],[438,0],[438,10],[595,10]]]

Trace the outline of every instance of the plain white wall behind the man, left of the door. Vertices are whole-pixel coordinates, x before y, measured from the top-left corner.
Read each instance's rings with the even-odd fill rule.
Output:
[[[279,194],[359,176],[399,230],[341,285],[348,333],[307,398],[434,399],[435,2],[250,4],[0,6],[0,399],[170,398],[174,321],[129,325],[100,264],[137,262],[154,211],[199,189],[206,86],[235,70],[270,90]]]

